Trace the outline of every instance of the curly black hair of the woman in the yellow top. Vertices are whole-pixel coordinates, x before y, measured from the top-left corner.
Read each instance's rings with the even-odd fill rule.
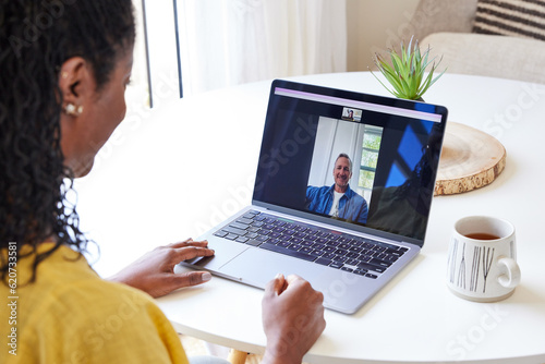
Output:
[[[60,145],[61,65],[84,58],[99,92],[134,38],[131,0],[0,0],[0,250],[32,247],[31,281],[59,246],[83,253],[88,243],[66,198],[74,173]],[[45,241],[55,245],[38,253]],[[5,283],[4,254],[0,271]]]

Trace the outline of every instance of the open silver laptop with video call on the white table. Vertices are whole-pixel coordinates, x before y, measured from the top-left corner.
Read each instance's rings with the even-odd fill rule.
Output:
[[[421,251],[447,109],[275,80],[252,204],[181,265],[264,288],[295,274],[355,313]]]

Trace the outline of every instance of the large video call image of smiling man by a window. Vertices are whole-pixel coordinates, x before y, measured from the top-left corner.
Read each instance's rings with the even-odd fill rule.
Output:
[[[306,190],[310,211],[366,223],[382,133],[380,126],[343,117],[319,118]]]

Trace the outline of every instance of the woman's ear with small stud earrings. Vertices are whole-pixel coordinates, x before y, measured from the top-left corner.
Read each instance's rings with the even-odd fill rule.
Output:
[[[62,63],[59,72],[59,87],[62,93],[62,109],[69,116],[77,117],[83,111],[89,90],[95,82],[88,63],[82,57],[72,57]]]

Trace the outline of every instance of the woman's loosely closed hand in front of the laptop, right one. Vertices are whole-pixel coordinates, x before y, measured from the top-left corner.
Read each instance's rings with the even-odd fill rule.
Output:
[[[263,363],[301,363],[326,328],[324,295],[298,276],[278,275],[265,288],[263,327],[267,348]]]

